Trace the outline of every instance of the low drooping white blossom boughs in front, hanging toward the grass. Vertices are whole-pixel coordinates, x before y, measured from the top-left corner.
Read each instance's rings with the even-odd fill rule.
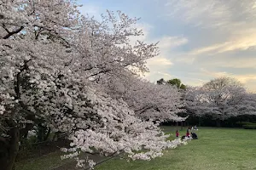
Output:
[[[78,166],[84,166],[84,161],[94,165],[91,160],[79,160],[79,151],[96,151],[104,156],[124,151],[133,160],[149,160],[161,156],[162,150],[183,143],[166,141],[167,135],[159,127],[138,119],[123,99],[113,99],[88,87],[81,88],[79,83],[73,82],[68,88],[63,83],[60,91],[44,94],[44,105],[38,108],[51,117],[51,128],[67,133],[72,141],[72,148],[62,149],[68,152],[63,158],[75,157]],[[147,151],[137,153],[142,149]]]

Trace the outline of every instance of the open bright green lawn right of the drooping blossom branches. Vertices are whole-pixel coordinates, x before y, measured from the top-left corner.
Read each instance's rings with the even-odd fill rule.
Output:
[[[168,127],[165,127],[168,128]],[[174,133],[173,129],[166,132]],[[180,132],[184,134],[183,130]],[[161,158],[152,161],[108,161],[96,170],[234,170],[256,169],[256,131],[230,128],[203,128],[196,132],[198,140],[168,150]]]

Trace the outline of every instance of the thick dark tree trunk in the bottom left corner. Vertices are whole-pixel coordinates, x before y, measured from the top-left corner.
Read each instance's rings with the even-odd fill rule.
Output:
[[[1,170],[14,170],[15,158],[19,150],[20,131],[17,127],[9,130],[10,139],[0,141],[0,166]]]

